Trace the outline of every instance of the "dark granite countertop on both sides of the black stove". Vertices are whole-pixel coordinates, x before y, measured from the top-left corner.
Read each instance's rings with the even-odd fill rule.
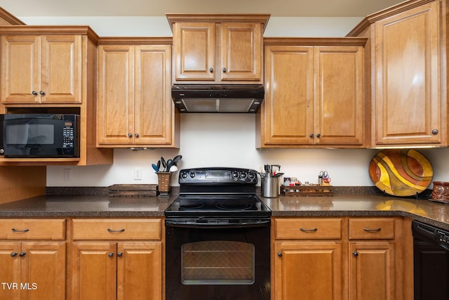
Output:
[[[0,204],[0,218],[162,217],[170,197],[51,194]],[[264,198],[272,216],[406,216],[449,230],[449,204],[370,193]]]

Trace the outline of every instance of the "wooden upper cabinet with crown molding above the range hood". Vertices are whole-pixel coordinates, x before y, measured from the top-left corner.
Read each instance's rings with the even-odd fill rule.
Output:
[[[173,82],[262,83],[269,15],[167,14],[173,30]]]

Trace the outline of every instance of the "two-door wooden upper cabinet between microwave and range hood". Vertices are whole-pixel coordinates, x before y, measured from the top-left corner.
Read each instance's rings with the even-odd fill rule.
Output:
[[[100,44],[98,147],[178,147],[170,53],[168,44]]]

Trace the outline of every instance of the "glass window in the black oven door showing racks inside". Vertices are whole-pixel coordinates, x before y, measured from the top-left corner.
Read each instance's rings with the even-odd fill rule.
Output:
[[[203,241],[182,244],[184,285],[252,285],[254,245],[246,242]]]

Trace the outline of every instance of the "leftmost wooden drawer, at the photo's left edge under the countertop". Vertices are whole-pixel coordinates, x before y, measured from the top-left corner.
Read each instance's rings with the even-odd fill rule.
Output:
[[[65,240],[65,219],[1,219],[0,239]]]

